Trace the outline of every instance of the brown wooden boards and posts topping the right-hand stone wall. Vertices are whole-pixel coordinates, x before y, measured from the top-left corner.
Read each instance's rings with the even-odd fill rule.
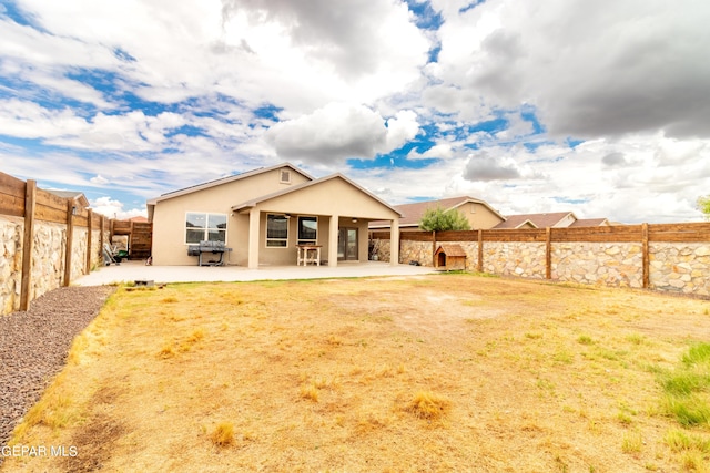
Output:
[[[372,240],[388,240],[389,230],[371,232]],[[438,243],[476,244],[476,269],[484,270],[485,248],[490,243],[531,243],[545,245],[545,278],[552,278],[552,250],[556,245],[570,243],[630,243],[640,246],[641,287],[649,287],[650,245],[710,243],[710,223],[641,224],[608,227],[478,229],[466,232],[400,232],[400,241],[432,243],[432,258]],[[403,245],[399,245],[400,251]],[[702,254],[704,257],[704,253]],[[682,258],[678,264],[682,264]],[[428,266],[428,261],[424,261]],[[432,266],[434,263],[432,261]],[[710,278],[710,274],[704,275]]]

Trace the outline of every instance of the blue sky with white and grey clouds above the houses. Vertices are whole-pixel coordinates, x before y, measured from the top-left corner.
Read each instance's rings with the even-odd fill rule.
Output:
[[[392,205],[698,222],[708,24],[707,0],[0,0],[0,171],[118,218],[290,162]]]

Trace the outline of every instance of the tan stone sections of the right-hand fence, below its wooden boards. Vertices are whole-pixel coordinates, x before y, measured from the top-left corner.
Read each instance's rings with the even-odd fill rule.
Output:
[[[477,241],[447,241],[466,251],[466,269],[476,271]],[[438,243],[437,243],[438,246]],[[375,247],[381,260],[389,259],[389,240]],[[399,263],[433,266],[430,241],[400,241]],[[486,241],[484,271],[523,278],[545,279],[544,243]],[[385,250],[386,248],[386,250]],[[554,243],[551,279],[610,287],[643,287],[643,255],[640,243]],[[710,243],[650,243],[649,288],[710,296]]]

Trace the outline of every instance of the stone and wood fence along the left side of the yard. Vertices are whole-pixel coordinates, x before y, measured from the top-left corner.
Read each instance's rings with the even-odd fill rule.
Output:
[[[0,173],[0,316],[102,264],[111,220]]]

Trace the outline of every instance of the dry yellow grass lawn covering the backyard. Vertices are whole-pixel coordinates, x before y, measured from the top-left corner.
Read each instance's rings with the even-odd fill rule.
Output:
[[[78,455],[2,471],[710,471],[659,382],[709,307],[471,275],[124,288],[13,439]]]

